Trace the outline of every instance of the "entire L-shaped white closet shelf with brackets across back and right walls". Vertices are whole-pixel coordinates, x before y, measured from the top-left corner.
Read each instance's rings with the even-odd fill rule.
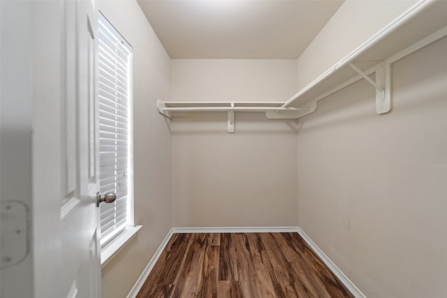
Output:
[[[447,1],[421,0],[344,59],[285,102],[157,102],[163,116],[175,112],[228,112],[228,133],[235,112],[265,112],[268,119],[298,119],[315,112],[318,101],[358,80],[376,89],[376,113],[392,109],[391,65],[447,36]],[[415,70],[416,71],[416,70]],[[375,80],[369,75],[375,74]]]

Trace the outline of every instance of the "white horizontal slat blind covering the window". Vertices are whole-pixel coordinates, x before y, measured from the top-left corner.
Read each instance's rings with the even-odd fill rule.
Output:
[[[131,177],[131,46],[108,20],[99,15],[98,103],[101,194],[116,193],[111,204],[101,204],[101,246],[133,218]],[[133,208],[133,207],[132,207]]]

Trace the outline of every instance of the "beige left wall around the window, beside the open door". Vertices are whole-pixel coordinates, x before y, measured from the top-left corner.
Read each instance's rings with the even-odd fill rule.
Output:
[[[171,228],[170,135],[156,111],[169,98],[170,59],[138,3],[99,1],[99,9],[133,46],[135,239],[103,268],[103,297],[126,297]]]

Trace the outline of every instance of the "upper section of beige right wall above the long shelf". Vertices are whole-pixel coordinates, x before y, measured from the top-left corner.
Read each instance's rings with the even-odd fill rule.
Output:
[[[346,0],[298,58],[298,89],[356,50],[416,2]]]

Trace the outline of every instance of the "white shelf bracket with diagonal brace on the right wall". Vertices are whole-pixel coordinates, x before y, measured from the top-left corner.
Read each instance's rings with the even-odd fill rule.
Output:
[[[369,84],[376,89],[376,113],[377,114],[385,114],[390,112],[391,110],[391,77],[390,77],[390,64],[382,62],[378,64],[376,68],[376,80],[372,80],[366,73],[360,70],[353,63],[350,63],[349,66],[353,70],[356,70],[361,77],[363,77]]]

